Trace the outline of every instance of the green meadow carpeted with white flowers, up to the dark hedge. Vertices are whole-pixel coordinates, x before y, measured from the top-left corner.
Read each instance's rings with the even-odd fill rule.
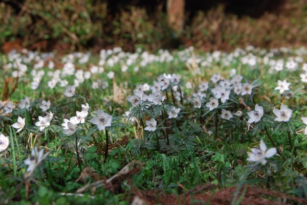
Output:
[[[305,204],[307,50],[2,55],[2,204]]]

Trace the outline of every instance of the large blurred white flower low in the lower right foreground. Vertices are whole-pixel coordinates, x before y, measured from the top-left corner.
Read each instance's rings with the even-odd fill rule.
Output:
[[[277,152],[275,147],[267,150],[267,146],[263,140],[260,140],[260,149],[252,148],[252,152],[247,152],[249,158],[248,161],[256,162],[256,164],[261,163],[265,165],[267,163],[266,158],[274,156]]]

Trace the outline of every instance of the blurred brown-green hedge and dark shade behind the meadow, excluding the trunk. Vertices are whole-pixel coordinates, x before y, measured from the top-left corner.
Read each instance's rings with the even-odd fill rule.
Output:
[[[0,46],[149,51],[307,44],[306,0],[186,1],[183,31],[167,24],[166,0],[7,0],[0,3]],[[249,3],[247,3],[249,2]],[[6,44],[13,41],[12,44]],[[17,45],[18,44],[18,45]]]

